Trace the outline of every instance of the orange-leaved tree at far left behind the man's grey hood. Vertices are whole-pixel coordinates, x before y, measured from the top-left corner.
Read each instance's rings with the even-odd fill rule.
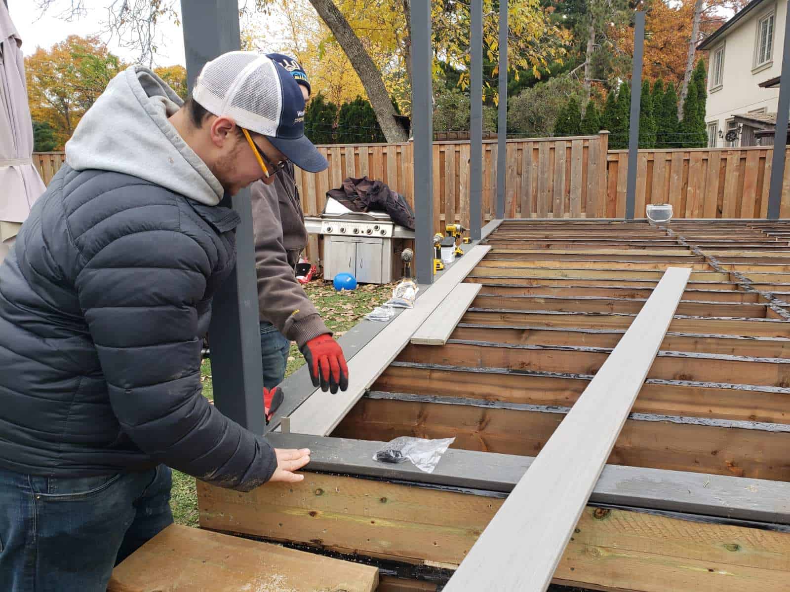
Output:
[[[58,148],[125,65],[95,36],[69,36],[24,59],[32,118],[55,129]]]

